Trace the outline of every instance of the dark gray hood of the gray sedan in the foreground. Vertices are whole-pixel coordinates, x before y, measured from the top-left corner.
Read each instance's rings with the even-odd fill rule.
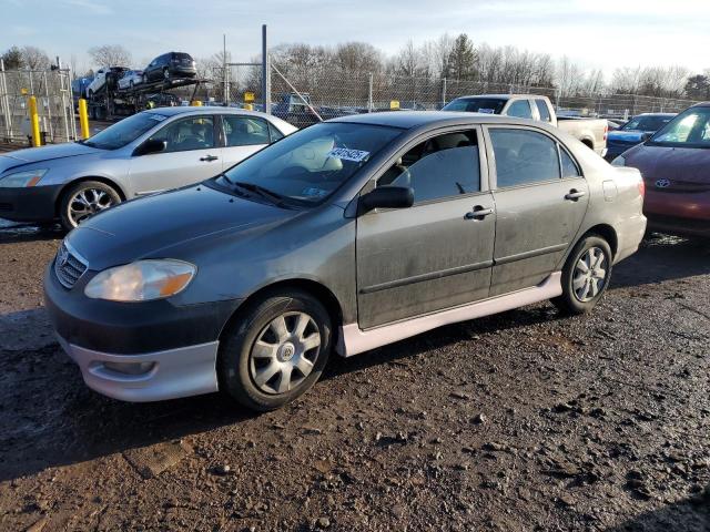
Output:
[[[67,242],[90,269],[101,270],[141,258],[189,259],[210,238],[266,231],[298,213],[196,185],[120,204],[72,231]]]

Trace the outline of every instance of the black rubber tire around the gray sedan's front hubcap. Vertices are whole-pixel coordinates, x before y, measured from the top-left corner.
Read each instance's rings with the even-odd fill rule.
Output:
[[[320,346],[312,362],[313,369],[293,389],[282,393],[266,392],[263,386],[267,385],[260,388],[252,376],[255,367],[252,361],[252,348],[256,340],[264,338],[263,335],[272,321],[290,313],[303,313],[317,326],[317,330],[311,332],[320,335]],[[318,380],[328,361],[332,338],[331,317],[325,307],[310,294],[294,289],[265,295],[241,313],[239,319],[222,335],[217,360],[220,390],[252,410],[263,412],[281,408],[304,395]],[[278,364],[282,362],[283,360],[280,360]],[[298,371],[296,375],[302,374]],[[283,376],[276,374],[275,377],[280,377],[277,382],[281,382]]]

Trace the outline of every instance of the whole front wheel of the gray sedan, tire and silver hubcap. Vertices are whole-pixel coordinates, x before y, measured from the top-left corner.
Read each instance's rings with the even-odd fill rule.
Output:
[[[297,399],[325,368],[331,327],[323,305],[301,290],[273,294],[251,305],[224,332],[220,389],[257,411]]]

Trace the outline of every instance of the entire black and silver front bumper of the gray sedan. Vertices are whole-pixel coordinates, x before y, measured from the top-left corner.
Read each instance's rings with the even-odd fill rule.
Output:
[[[87,385],[115,399],[158,401],[216,391],[222,328],[241,300],[175,305],[114,303],[84,296],[88,272],[71,289],[44,274],[50,321]]]

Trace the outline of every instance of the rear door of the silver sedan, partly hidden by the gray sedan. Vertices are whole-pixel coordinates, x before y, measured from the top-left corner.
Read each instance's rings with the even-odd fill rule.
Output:
[[[266,120],[239,114],[222,115],[222,135],[223,170],[234,166],[276,140],[272,140]]]

